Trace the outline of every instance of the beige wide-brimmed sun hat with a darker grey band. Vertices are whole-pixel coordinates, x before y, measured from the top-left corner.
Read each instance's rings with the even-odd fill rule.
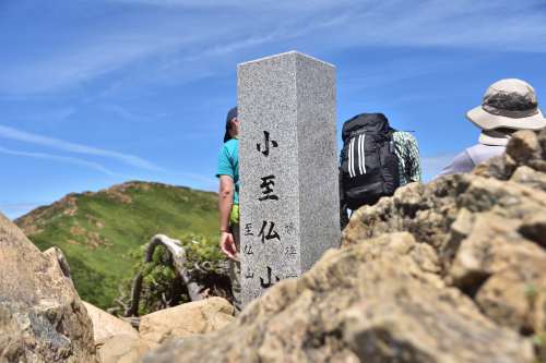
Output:
[[[546,128],[546,119],[538,108],[535,89],[517,78],[501,80],[490,85],[482,106],[470,110],[466,118],[482,130]]]

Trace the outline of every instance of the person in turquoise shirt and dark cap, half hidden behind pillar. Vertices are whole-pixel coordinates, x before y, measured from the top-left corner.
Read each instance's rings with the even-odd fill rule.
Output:
[[[239,250],[239,121],[237,107],[227,112],[224,144],[218,155],[219,246],[229,257],[229,277],[234,306],[240,311]]]

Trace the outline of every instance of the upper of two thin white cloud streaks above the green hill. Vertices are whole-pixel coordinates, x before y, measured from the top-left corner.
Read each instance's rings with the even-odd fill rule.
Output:
[[[70,143],[67,141],[62,141],[59,138],[52,138],[47,136],[41,136],[24,131],[20,131],[9,126],[0,125],[0,137],[5,137],[10,140],[15,140],[19,142],[24,142],[34,145],[40,145],[50,147],[58,150],[69,152],[73,154],[82,154],[82,155],[93,155],[100,156],[106,158],[116,159],[118,161],[124,162],[127,165],[152,170],[152,171],[163,171],[162,168],[155,166],[154,164],[144,160],[138,156],[130,154],[122,154],[112,150],[106,150],[102,148],[91,147],[82,144]],[[70,158],[69,158],[70,159]]]

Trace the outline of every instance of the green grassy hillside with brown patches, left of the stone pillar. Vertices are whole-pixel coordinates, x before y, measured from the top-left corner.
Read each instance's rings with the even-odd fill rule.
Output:
[[[128,182],[96,193],[69,194],[15,222],[40,250],[59,246],[82,299],[106,308],[138,263],[130,252],[154,234],[194,233],[215,241],[216,201],[211,192]]]

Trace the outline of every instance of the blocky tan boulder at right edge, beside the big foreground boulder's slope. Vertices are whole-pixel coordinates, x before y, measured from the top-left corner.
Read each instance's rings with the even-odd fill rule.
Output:
[[[476,215],[448,276],[450,283],[475,295],[485,315],[524,334],[546,328],[546,251],[519,232],[539,225],[538,216],[522,222],[492,213]]]

